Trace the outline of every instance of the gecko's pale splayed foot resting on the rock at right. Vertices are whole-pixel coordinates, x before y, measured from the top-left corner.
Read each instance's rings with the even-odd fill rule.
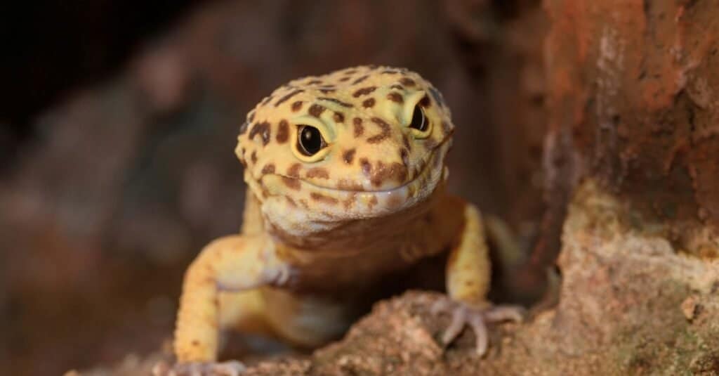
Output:
[[[452,323],[444,331],[442,342],[444,346],[452,343],[459,336],[464,326],[469,325],[477,338],[477,355],[482,357],[489,347],[487,324],[500,321],[523,320],[525,309],[518,305],[489,305],[477,308],[467,303],[452,300],[449,297],[438,300],[432,305],[431,313],[452,313]]]

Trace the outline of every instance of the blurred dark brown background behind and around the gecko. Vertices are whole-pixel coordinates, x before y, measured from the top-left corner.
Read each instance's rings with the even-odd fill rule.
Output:
[[[156,351],[184,269],[237,232],[233,148],[276,86],[403,66],[457,124],[451,189],[525,250],[544,212],[539,0],[47,1],[3,5],[0,370]],[[507,299],[521,292],[495,294]]]

